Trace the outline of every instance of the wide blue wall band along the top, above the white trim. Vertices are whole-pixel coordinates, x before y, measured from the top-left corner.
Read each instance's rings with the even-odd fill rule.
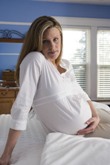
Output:
[[[110,6],[0,0],[0,21],[31,22],[40,15],[110,18]]]

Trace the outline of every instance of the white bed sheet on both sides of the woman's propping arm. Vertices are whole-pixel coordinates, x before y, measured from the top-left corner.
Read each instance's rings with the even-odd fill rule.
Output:
[[[10,115],[0,115],[0,155],[6,143],[10,119]],[[45,138],[46,132],[34,115],[15,146],[10,165],[39,165]]]

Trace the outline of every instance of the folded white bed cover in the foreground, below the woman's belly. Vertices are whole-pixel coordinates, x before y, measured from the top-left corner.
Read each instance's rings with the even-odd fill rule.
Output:
[[[110,140],[50,133],[40,165],[110,165]]]

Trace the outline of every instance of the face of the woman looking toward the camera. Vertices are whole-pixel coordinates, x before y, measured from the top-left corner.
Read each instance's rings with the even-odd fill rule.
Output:
[[[61,34],[56,27],[47,29],[43,35],[42,53],[44,56],[55,63],[61,52]]]

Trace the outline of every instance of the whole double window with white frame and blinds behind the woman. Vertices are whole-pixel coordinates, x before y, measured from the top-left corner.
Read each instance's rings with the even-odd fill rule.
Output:
[[[55,17],[63,27],[63,57],[92,100],[110,101],[110,20]]]

